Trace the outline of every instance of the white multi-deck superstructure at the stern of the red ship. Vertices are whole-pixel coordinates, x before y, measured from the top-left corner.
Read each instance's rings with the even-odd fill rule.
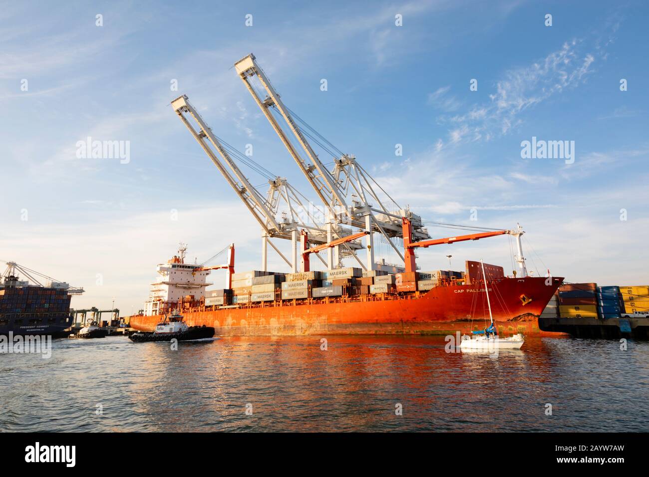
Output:
[[[180,244],[178,255],[158,265],[158,278],[151,284],[151,295],[144,304],[144,315],[160,315],[175,308],[178,300],[193,295],[195,300],[205,296],[209,271],[195,271],[201,265],[185,263],[187,247]]]

